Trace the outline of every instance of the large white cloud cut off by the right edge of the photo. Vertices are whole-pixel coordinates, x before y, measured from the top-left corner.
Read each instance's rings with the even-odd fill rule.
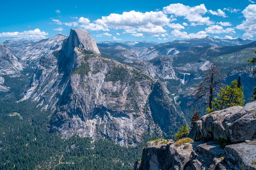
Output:
[[[250,4],[248,5],[243,11],[242,11],[245,20],[242,24],[239,24],[236,26],[236,29],[240,29],[245,31],[245,34],[243,35],[243,38],[248,39],[256,36],[256,4]]]

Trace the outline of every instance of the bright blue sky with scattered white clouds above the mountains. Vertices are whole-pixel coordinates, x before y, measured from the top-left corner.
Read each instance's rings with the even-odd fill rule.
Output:
[[[0,16],[0,42],[69,35],[72,28],[96,42],[256,40],[253,0],[1,0]]]

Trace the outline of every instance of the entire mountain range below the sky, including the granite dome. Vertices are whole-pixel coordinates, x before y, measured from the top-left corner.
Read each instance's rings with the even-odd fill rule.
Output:
[[[11,81],[29,81],[17,101],[32,100],[49,113],[48,130],[136,146],[144,135],[173,138],[193,108],[190,93],[216,62],[230,84],[240,76],[245,99],[256,85],[256,42],[206,37],[155,42],[99,42],[83,29],[70,35],[0,43],[0,93]],[[200,113],[204,114],[203,111]]]

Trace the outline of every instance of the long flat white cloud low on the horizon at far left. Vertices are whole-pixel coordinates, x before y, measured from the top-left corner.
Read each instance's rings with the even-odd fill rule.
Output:
[[[34,29],[23,32],[7,32],[0,33],[0,38],[8,38],[9,40],[42,40],[46,39],[45,31],[40,31],[40,29]]]

